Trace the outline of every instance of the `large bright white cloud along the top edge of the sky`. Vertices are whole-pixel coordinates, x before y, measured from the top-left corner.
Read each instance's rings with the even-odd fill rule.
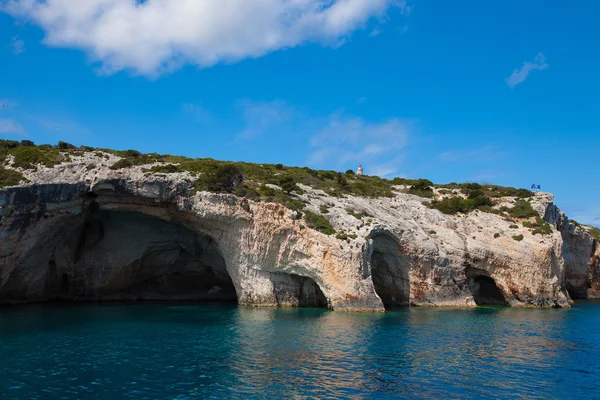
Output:
[[[305,42],[339,44],[405,0],[5,0],[50,46],[85,50],[106,73],[156,76],[184,63],[209,67]]]

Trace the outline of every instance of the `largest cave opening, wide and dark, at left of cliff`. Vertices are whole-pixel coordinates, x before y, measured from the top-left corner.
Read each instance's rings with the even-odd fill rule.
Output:
[[[236,302],[217,243],[182,223],[90,208],[53,239],[47,300]]]

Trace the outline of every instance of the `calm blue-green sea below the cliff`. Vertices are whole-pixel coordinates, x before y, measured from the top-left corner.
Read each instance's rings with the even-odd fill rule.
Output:
[[[600,303],[0,309],[0,398],[600,399]]]

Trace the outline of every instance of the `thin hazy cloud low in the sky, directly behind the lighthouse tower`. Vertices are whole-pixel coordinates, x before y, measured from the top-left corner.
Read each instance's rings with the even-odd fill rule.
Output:
[[[400,119],[368,123],[336,115],[311,139],[308,164],[341,170],[360,162],[366,174],[391,176],[398,173],[408,139],[409,124]]]

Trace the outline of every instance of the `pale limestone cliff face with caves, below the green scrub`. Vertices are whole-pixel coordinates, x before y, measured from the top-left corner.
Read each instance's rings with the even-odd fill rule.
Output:
[[[338,238],[308,228],[282,205],[193,194],[187,172],[113,171],[116,160],[85,153],[22,171],[27,185],[0,190],[1,303],[569,307],[567,289],[579,293],[584,281],[595,282],[589,296],[599,288],[589,272],[590,257],[598,270],[597,242],[562,227],[533,235],[499,215],[445,215],[400,192],[336,198],[303,186],[298,197],[308,210],[328,209],[345,233]],[[551,195],[537,194],[532,205],[560,225]]]

